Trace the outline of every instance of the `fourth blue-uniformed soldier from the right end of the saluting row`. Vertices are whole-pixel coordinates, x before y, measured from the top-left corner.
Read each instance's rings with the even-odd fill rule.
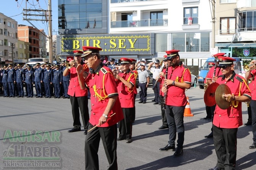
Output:
[[[42,82],[43,82],[43,69],[40,67],[40,63],[36,63],[36,68],[34,70],[35,73],[35,78],[34,78],[34,82],[35,82],[35,87],[36,87],[36,93],[37,93],[37,98],[43,97],[43,91],[42,91]]]

